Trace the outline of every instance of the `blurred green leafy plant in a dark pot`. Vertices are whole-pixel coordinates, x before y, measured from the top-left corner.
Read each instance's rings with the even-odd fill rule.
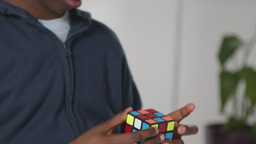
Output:
[[[218,53],[220,113],[227,121],[207,126],[208,144],[256,143],[256,122],[254,125],[248,123],[248,118],[256,114],[256,70],[248,64],[255,43],[256,34],[249,41],[243,41],[236,35],[225,35],[222,40]],[[241,64],[237,64],[235,69],[229,69],[228,60],[234,60],[234,55],[241,50],[244,52]],[[244,88],[243,94],[238,93],[238,87]],[[226,110],[228,102],[232,104],[231,113]]]

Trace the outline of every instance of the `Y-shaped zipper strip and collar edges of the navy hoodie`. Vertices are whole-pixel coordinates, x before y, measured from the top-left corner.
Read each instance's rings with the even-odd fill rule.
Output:
[[[25,19],[26,20],[26,19]],[[79,128],[79,123],[77,121],[77,118],[75,117],[75,112],[74,112],[74,106],[73,106],[73,100],[74,100],[74,69],[73,69],[73,61],[72,61],[72,52],[71,52],[71,43],[72,40],[75,39],[76,36],[78,36],[79,33],[82,33],[84,31],[86,31],[86,29],[88,27],[84,27],[83,29],[80,29],[79,31],[72,33],[71,35],[69,35],[66,39],[65,44],[62,43],[62,41],[60,41],[59,38],[57,38],[57,36],[51,32],[49,29],[45,28],[44,26],[40,25],[37,22],[33,22],[30,20],[26,20],[26,22],[28,22],[30,25],[37,27],[38,29],[40,29],[40,31],[43,32],[47,32],[49,34],[51,34],[57,41],[59,44],[61,44],[62,46],[62,50],[65,50],[66,52],[66,60],[67,63],[65,64],[66,69],[68,69],[68,82],[66,82],[66,84],[68,85],[67,91],[66,91],[66,113],[67,113],[67,118],[69,120],[69,122],[71,123],[71,127],[74,131],[74,135],[76,137],[78,137],[82,131]]]

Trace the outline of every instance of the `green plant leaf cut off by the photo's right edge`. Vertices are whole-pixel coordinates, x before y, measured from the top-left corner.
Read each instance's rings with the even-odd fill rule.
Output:
[[[256,71],[252,68],[245,68],[243,75],[246,81],[246,94],[254,106],[256,104]]]

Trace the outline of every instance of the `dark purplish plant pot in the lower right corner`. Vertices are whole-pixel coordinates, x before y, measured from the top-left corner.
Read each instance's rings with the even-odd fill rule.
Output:
[[[254,144],[252,128],[245,131],[223,131],[222,125],[209,125],[206,127],[207,144]]]

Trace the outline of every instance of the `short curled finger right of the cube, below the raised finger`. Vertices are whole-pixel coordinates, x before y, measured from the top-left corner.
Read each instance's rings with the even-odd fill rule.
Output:
[[[196,125],[179,125],[177,132],[179,135],[195,135],[198,133]]]

